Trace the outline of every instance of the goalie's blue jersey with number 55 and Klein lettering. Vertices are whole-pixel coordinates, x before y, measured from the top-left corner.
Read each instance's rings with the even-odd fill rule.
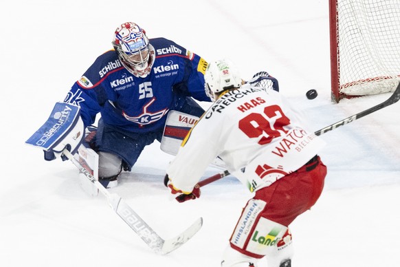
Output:
[[[105,52],[74,83],[66,103],[81,107],[85,126],[101,114],[107,125],[146,132],[164,127],[169,110],[179,110],[186,96],[210,101],[204,91],[207,62],[173,41],[150,39],[155,61],[146,78],[133,76],[114,50]]]

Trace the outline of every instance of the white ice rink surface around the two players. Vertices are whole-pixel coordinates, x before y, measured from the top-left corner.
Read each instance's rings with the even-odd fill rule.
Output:
[[[252,195],[228,177],[179,204],[162,184],[171,156],[147,147],[112,189],[163,237],[201,216],[187,244],[159,256],[78,185],[70,162],[45,162],[25,145],[54,103],[135,21],[208,61],[231,58],[244,78],[267,70],[318,130],[390,96],[331,103],[327,1],[13,1],[1,3],[0,266],[219,266]],[[319,96],[307,100],[315,88]],[[291,224],[293,266],[394,266],[400,249],[400,104],[326,133],[329,172],[318,203]],[[216,172],[210,168],[205,177]],[[263,265],[264,264],[264,265]],[[266,266],[262,262],[261,266]]]

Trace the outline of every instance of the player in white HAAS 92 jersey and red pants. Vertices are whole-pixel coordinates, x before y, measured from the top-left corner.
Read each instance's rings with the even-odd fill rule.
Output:
[[[254,197],[223,253],[221,266],[289,267],[293,255],[289,224],[320,197],[326,166],[318,151],[324,142],[309,131],[304,117],[256,76],[244,83],[229,60],[205,72],[205,90],[214,101],[182,143],[164,181],[177,200],[200,196],[197,184],[217,156]]]

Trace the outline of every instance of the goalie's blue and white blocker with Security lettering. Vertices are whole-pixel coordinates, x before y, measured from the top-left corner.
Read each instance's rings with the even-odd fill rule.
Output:
[[[80,118],[80,107],[57,102],[47,121],[25,142],[43,149],[45,160],[67,160],[63,150],[76,153],[83,138],[85,126]]]

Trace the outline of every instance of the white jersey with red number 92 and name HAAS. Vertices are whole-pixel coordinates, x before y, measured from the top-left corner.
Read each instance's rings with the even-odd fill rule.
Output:
[[[205,112],[166,172],[177,189],[191,192],[219,156],[250,191],[269,186],[325,144],[301,120],[278,92],[245,84]]]

